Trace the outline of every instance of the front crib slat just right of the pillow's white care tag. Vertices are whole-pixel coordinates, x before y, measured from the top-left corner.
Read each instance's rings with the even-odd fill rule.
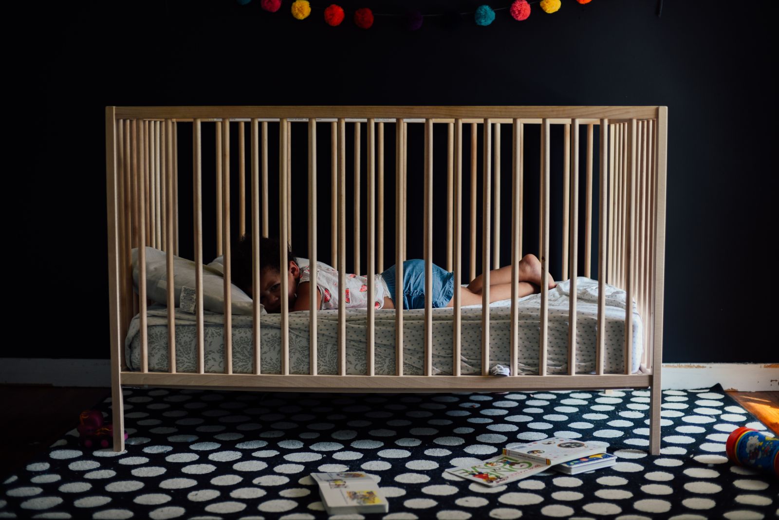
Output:
[[[203,144],[200,120],[192,121],[192,192],[195,200],[195,298],[197,372],[205,374],[206,346],[203,320]]]

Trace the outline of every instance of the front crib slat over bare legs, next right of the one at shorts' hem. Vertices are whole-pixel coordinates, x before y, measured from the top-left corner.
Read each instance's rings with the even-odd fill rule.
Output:
[[[484,189],[481,199],[481,375],[489,375],[489,239],[490,239],[490,182],[492,172],[492,120],[485,119],[484,125],[484,166],[482,167],[482,182]]]

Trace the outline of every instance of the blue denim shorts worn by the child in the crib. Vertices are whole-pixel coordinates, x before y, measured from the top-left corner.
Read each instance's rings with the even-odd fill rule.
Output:
[[[432,265],[433,271],[433,308],[446,307],[454,294],[454,273],[446,272],[438,265]],[[382,278],[390,289],[390,298],[395,301],[395,266],[382,272]],[[425,308],[425,261],[406,260],[403,262],[403,308]]]

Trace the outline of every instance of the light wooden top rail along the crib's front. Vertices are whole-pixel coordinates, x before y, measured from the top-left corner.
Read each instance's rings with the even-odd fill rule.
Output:
[[[541,123],[542,119],[551,119],[552,124],[570,123],[578,118],[584,124],[597,123],[601,118],[610,122],[629,119],[654,119],[660,107],[587,107],[587,106],[478,106],[478,107],[439,107],[439,106],[225,106],[225,107],[115,107],[116,119],[174,119],[176,121],[192,121],[193,119],[221,121],[228,118],[231,121],[250,121],[258,118],[263,121],[278,121],[287,118],[291,121],[337,121],[344,118],[351,121],[397,121],[398,118],[407,122],[438,120],[437,122],[453,122],[463,119],[464,122],[481,122],[485,118],[493,122],[511,122],[512,119],[522,119],[523,123]],[[474,121],[469,121],[469,120]],[[436,122],[436,121],[434,121]]]

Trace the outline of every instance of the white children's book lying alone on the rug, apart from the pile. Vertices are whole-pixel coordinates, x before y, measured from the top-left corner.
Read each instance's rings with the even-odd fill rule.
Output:
[[[312,473],[311,478],[319,484],[319,496],[328,515],[390,511],[386,498],[379,493],[379,484],[366,473]]]

